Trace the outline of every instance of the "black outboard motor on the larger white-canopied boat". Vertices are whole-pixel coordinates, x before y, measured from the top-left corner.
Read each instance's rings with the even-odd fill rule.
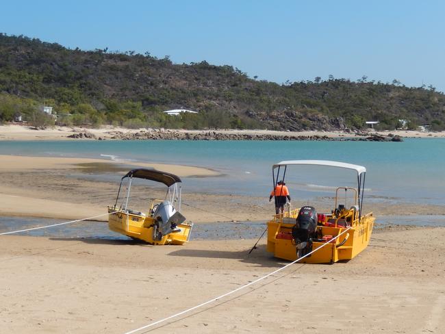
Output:
[[[292,237],[296,244],[297,257],[302,257],[312,251],[312,238],[317,226],[315,207],[302,207],[292,227]]]

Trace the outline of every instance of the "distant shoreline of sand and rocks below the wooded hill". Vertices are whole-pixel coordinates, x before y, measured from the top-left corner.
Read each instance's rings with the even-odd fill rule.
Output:
[[[345,140],[370,135],[401,138],[445,138],[445,131],[272,131],[272,130],[183,130],[183,129],[124,129],[120,127],[58,127],[37,130],[25,125],[0,125],[2,140],[115,140],[115,139],[183,139],[183,140]],[[75,138],[68,138],[73,136]]]

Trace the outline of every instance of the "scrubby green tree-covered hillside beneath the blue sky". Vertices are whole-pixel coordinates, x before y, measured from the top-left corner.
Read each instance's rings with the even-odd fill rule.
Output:
[[[445,95],[432,86],[335,79],[275,84],[233,66],[173,64],[133,51],[71,50],[56,43],[0,34],[0,122],[21,114],[36,126],[60,125],[238,129],[379,129],[430,125],[445,129]],[[199,114],[168,116],[170,109]]]

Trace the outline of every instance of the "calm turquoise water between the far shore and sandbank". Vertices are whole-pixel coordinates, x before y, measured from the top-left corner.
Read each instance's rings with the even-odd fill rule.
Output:
[[[272,187],[272,164],[292,159],[329,159],[366,166],[368,201],[445,204],[445,140],[442,138],[406,139],[405,142],[2,141],[0,154],[203,166],[216,169],[224,176],[186,178],[185,190],[265,197]],[[117,175],[109,177],[118,180]],[[354,185],[355,173],[294,166],[288,169],[286,180],[296,198],[329,196],[334,186]]]

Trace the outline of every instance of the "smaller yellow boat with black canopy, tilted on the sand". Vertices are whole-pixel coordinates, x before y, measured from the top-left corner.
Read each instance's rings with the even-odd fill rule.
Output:
[[[147,205],[148,211],[129,209],[131,181],[147,179],[167,186],[163,200],[155,199]],[[126,186],[123,196],[120,192]],[[118,205],[120,201],[120,205]],[[190,239],[192,222],[179,212],[181,209],[181,179],[176,175],[160,170],[145,168],[130,170],[120,180],[116,203],[108,207],[108,227],[110,230],[142,240],[153,245],[184,244]]]

